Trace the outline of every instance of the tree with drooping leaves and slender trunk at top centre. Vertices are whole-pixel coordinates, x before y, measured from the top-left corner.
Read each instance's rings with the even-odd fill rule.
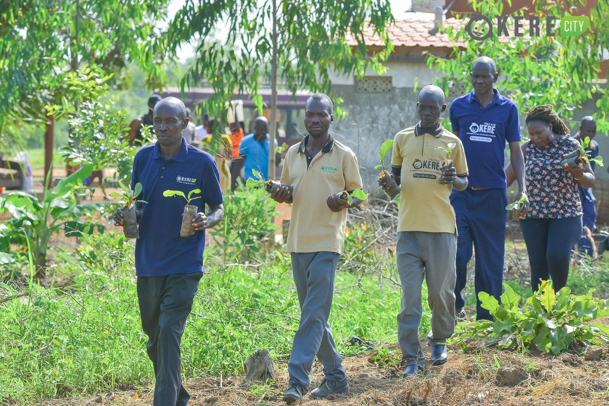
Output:
[[[292,94],[298,89],[328,93],[332,71],[358,77],[370,66],[384,71],[381,62],[392,49],[385,26],[391,21],[387,0],[199,0],[186,2],[175,15],[166,33],[169,48],[165,52],[175,54],[183,41],[196,36],[205,39],[216,27],[228,27],[224,40],[200,43],[194,66],[181,81],[181,87],[209,83],[215,92],[207,104],[212,111],[217,111],[214,106],[224,106],[224,101],[235,93],[252,95],[261,109],[261,82],[270,82],[272,148],[278,81]],[[379,51],[369,52],[365,46],[363,31],[367,25],[384,43]],[[356,46],[345,44],[349,35],[356,40]],[[269,178],[275,178],[272,150]]]

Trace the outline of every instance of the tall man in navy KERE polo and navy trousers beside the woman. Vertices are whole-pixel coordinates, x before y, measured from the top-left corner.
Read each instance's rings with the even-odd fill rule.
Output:
[[[461,291],[467,279],[467,263],[476,251],[476,320],[492,317],[482,309],[479,292],[499,299],[503,282],[507,194],[505,192],[505,142],[510,146],[510,161],[518,181],[516,199],[526,196],[524,156],[520,149],[518,107],[493,88],[499,74],[495,61],[480,57],[471,69],[473,90],[457,97],[450,108],[452,132],[463,143],[469,186],[465,191],[452,191],[451,204],[457,215],[457,283],[456,315],[465,317],[465,299]],[[525,201],[524,214],[529,202]]]

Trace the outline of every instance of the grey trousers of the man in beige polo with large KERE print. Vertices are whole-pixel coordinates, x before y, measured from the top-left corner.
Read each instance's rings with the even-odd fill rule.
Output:
[[[398,233],[398,273],[402,306],[398,314],[398,340],[405,365],[425,366],[418,327],[423,312],[421,286],[427,282],[432,337],[429,345],[443,343],[454,333],[457,236],[451,233]]]

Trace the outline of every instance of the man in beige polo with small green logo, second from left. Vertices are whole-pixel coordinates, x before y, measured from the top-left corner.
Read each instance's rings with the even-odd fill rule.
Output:
[[[311,384],[309,372],[315,355],[323,364],[324,379],[311,397],[321,398],[349,391],[342,358],[336,351],[328,324],[334,273],[343,252],[348,207],[335,194],[362,187],[353,151],[328,134],[334,121],[332,101],[316,93],[306,102],[305,128],[300,144],[287,150],[281,172],[281,188],[272,197],[293,203],[287,251],[292,254],[292,273],[298,292],[301,316],[287,365],[290,376],[284,402],[302,400]],[[287,185],[287,186],[286,186]],[[288,186],[294,187],[294,195]]]

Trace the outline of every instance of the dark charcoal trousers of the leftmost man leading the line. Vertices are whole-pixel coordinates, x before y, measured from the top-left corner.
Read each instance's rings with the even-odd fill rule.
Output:
[[[154,406],[186,406],[182,386],[180,341],[203,272],[139,276],[138,303],[146,351],[155,373]]]

